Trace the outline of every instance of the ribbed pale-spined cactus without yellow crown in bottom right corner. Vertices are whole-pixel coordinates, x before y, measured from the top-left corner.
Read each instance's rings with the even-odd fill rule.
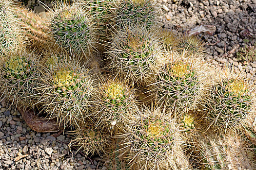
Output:
[[[253,170],[253,159],[244,142],[236,136],[221,138],[211,133],[200,135],[195,141],[197,160],[202,170]],[[198,168],[199,168],[198,167]]]

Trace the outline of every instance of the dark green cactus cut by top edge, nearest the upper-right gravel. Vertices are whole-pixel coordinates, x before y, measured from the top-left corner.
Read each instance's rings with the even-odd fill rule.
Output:
[[[156,24],[156,11],[152,0],[121,0],[117,9],[116,24],[123,28],[131,25],[147,29]]]

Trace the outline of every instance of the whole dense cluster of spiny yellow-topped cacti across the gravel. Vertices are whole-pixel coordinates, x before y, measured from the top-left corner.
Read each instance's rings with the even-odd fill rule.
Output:
[[[254,83],[209,67],[204,43],[163,29],[154,3],[58,2],[42,21],[1,1],[1,98],[107,170],[256,169]]]

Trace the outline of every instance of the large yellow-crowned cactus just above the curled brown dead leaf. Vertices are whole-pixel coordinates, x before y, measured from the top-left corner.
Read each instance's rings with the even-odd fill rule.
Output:
[[[61,63],[62,62],[62,63]],[[41,101],[50,118],[74,127],[90,115],[93,80],[88,70],[68,59],[58,66],[46,67],[41,77]]]

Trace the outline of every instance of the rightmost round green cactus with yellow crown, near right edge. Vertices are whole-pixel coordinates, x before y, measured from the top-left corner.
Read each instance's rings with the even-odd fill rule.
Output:
[[[218,82],[210,89],[206,107],[207,118],[214,121],[215,126],[232,128],[239,125],[252,108],[252,94],[243,80],[229,79]]]

